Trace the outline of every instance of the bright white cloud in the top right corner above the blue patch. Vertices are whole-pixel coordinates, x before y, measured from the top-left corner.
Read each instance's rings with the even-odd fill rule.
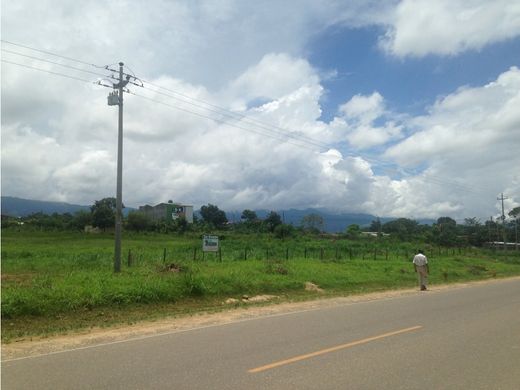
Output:
[[[518,37],[520,3],[510,0],[403,0],[382,47],[398,57],[456,55]]]

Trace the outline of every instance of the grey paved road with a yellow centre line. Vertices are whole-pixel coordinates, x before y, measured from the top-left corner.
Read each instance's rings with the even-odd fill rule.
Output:
[[[519,389],[520,281],[4,361],[2,389]]]

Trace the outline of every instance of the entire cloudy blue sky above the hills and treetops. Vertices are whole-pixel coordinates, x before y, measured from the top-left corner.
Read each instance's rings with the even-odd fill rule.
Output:
[[[124,62],[126,206],[520,205],[520,0],[18,0],[1,22],[4,196],[115,196]]]

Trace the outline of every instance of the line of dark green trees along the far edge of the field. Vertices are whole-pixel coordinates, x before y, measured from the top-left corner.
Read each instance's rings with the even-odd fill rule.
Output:
[[[83,231],[85,226],[93,226],[102,231],[114,227],[116,202],[115,198],[105,198],[96,201],[90,211],[79,211],[75,214],[44,214],[34,213],[23,218],[4,218],[2,228],[28,228],[38,230],[76,230]],[[239,222],[230,223],[226,213],[218,206],[208,204],[202,206],[200,215],[194,215],[193,223],[184,218],[174,220],[162,219],[154,221],[139,211],[130,212],[123,220],[124,229],[135,232],[158,232],[184,234],[186,232],[208,233],[215,231],[237,232],[242,234],[269,233],[276,238],[289,238],[298,235],[323,234],[324,220],[318,214],[309,214],[302,218],[298,226],[286,224],[275,211],[261,219],[252,210],[244,210]],[[509,212],[511,219],[503,223],[488,220],[482,223],[477,218],[466,218],[463,224],[458,224],[450,217],[441,217],[432,225],[419,224],[408,218],[398,218],[381,223],[379,219],[372,221],[370,226],[350,225],[341,234],[349,239],[359,239],[364,236],[386,236],[402,242],[430,242],[442,246],[482,246],[487,242],[516,242],[517,223],[520,217],[520,207]]]

